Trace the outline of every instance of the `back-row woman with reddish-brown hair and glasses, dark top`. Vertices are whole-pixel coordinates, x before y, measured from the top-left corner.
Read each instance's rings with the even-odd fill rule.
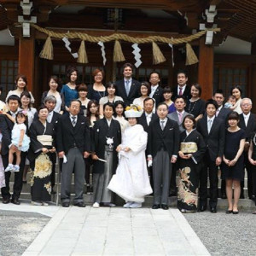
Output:
[[[107,95],[106,88],[104,84],[102,84],[102,80],[104,79],[104,71],[102,69],[96,68],[93,73],[94,83],[88,86],[88,97],[90,100],[96,100],[96,102],[100,102],[101,98]]]

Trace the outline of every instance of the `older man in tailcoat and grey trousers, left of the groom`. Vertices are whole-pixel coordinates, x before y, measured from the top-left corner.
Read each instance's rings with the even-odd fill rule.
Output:
[[[73,204],[78,207],[84,205],[84,158],[90,152],[90,130],[86,119],[79,114],[81,102],[73,100],[69,113],[59,119],[56,136],[57,152],[63,158],[61,173],[61,201],[62,207],[70,205],[70,189],[72,173],[74,172],[75,198]]]

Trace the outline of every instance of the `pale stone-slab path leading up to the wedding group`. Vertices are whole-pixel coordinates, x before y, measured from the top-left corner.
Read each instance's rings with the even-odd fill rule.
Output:
[[[54,208],[23,255],[210,255],[177,209]]]

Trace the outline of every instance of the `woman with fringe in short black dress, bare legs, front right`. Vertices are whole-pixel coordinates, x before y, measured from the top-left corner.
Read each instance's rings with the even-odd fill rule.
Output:
[[[225,148],[221,166],[222,179],[226,181],[226,195],[229,207],[226,213],[238,213],[238,201],[241,193],[240,182],[243,180],[244,155],[243,149],[246,134],[239,126],[239,114],[231,112],[228,116],[230,127],[226,130]],[[234,202],[232,201],[234,187]]]

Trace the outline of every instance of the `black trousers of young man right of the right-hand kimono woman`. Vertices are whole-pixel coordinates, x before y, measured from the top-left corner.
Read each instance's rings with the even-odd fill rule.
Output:
[[[210,207],[217,207],[218,201],[218,166],[215,160],[212,161],[209,153],[204,156],[204,165],[200,172],[200,206],[207,207],[207,177],[209,172],[210,180]]]

